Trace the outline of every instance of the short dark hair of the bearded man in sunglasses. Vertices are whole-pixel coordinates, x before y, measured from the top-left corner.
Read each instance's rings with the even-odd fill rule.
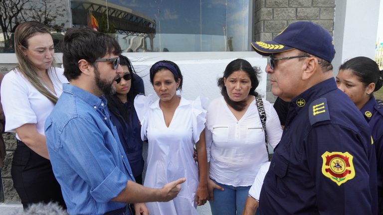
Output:
[[[84,59],[94,65],[95,61],[109,53],[121,54],[118,42],[90,28],[70,28],[61,44],[64,76],[70,81],[81,75],[78,61]]]

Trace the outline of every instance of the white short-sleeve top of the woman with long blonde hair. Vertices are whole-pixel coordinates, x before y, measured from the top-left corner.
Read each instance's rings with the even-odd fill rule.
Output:
[[[61,68],[48,70],[57,98],[62,93],[62,84],[68,83],[63,72]],[[38,92],[17,69],[9,71],[4,76],[0,91],[5,115],[5,131],[15,132],[21,125],[31,123],[36,124],[37,132],[44,135],[45,119],[54,104]],[[17,134],[16,138],[20,139]]]

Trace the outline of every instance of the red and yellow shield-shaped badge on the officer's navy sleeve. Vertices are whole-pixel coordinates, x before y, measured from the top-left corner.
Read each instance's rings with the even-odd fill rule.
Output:
[[[322,174],[341,186],[355,177],[353,158],[348,152],[325,152],[322,155]]]

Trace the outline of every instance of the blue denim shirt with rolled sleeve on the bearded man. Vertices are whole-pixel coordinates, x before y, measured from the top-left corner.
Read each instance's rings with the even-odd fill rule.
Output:
[[[126,206],[111,200],[134,177],[106,104],[103,96],[64,84],[45,121],[50,161],[69,214],[99,215]]]

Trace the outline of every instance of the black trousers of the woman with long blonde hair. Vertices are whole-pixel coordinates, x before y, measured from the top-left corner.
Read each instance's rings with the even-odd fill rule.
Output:
[[[30,204],[39,202],[56,202],[66,209],[50,161],[36,154],[19,140],[13,155],[11,176],[13,187],[24,209]]]

